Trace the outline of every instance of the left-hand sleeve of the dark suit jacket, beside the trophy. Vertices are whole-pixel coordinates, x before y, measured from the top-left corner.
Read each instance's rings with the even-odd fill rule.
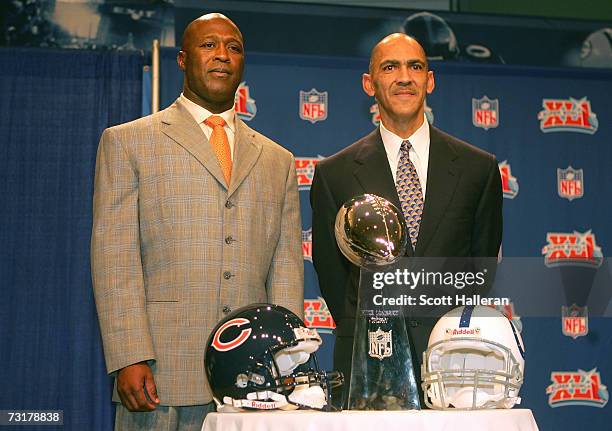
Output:
[[[336,205],[320,165],[310,189],[312,207],[312,260],[319,279],[319,288],[336,322],[344,315],[346,286],[350,266],[336,243],[334,225]],[[351,316],[352,317],[352,316]]]

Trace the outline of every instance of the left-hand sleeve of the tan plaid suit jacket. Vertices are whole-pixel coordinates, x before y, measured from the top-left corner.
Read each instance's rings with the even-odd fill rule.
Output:
[[[111,129],[104,131],[96,159],[91,273],[108,372],[155,359],[145,309],[138,176]]]

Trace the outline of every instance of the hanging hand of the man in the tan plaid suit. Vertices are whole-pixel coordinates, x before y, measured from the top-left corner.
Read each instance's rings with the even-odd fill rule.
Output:
[[[153,373],[146,362],[119,370],[117,392],[123,405],[131,412],[149,412],[159,404]]]

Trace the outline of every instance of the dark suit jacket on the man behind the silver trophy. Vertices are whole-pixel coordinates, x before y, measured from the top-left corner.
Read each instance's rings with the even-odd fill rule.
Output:
[[[313,262],[321,293],[336,321],[334,367],[350,378],[359,269],[340,252],[336,213],[364,193],[401,208],[387,154],[376,129],[317,164],[312,205]],[[430,126],[427,191],[414,252],[419,257],[497,256],[502,237],[502,186],[495,157]],[[420,363],[435,319],[407,322],[420,381]]]

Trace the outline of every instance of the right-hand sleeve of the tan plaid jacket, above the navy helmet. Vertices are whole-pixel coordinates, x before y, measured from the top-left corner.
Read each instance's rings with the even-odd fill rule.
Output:
[[[280,236],[272,256],[266,288],[270,302],[287,307],[303,319],[302,222],[293,156],[290,158],[287,171]]]

